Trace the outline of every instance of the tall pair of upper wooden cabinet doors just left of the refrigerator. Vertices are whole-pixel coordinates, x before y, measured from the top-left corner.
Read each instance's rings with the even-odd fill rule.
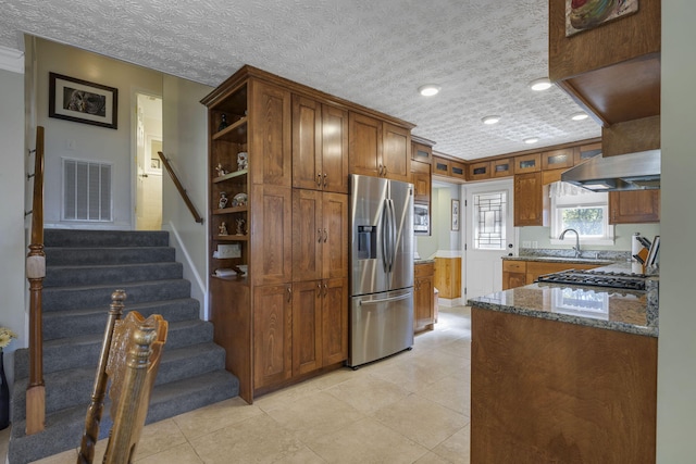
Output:
[[[293,96],[293,187],[348,193],[348,112]]]

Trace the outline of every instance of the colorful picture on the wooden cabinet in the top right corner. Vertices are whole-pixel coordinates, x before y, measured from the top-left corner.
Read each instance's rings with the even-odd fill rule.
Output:
[[[638,0],[566,0],[566,37],[638,11]]]

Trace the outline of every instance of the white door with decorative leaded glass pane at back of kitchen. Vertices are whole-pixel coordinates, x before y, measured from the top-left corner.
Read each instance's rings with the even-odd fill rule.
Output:
[[[502,256],[517,253],[512,179],[467,187],[467,299],[502,289]]]

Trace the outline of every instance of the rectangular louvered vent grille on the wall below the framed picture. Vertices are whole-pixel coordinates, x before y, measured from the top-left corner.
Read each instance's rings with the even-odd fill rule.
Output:
[[[63,159],[63,221],[112,221],[111,170],[108,163]]]

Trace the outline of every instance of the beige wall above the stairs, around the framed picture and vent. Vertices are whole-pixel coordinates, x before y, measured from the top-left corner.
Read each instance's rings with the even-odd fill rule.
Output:
[[[134,92],[162,95],[162,73],[48,40],[36,40],[37,124],[46,127],[46,226],[133,228]],[[49,72],[117,88],[117,129],[48,117]],[[62,158],[113,163],[112,223],[61,221]]]

